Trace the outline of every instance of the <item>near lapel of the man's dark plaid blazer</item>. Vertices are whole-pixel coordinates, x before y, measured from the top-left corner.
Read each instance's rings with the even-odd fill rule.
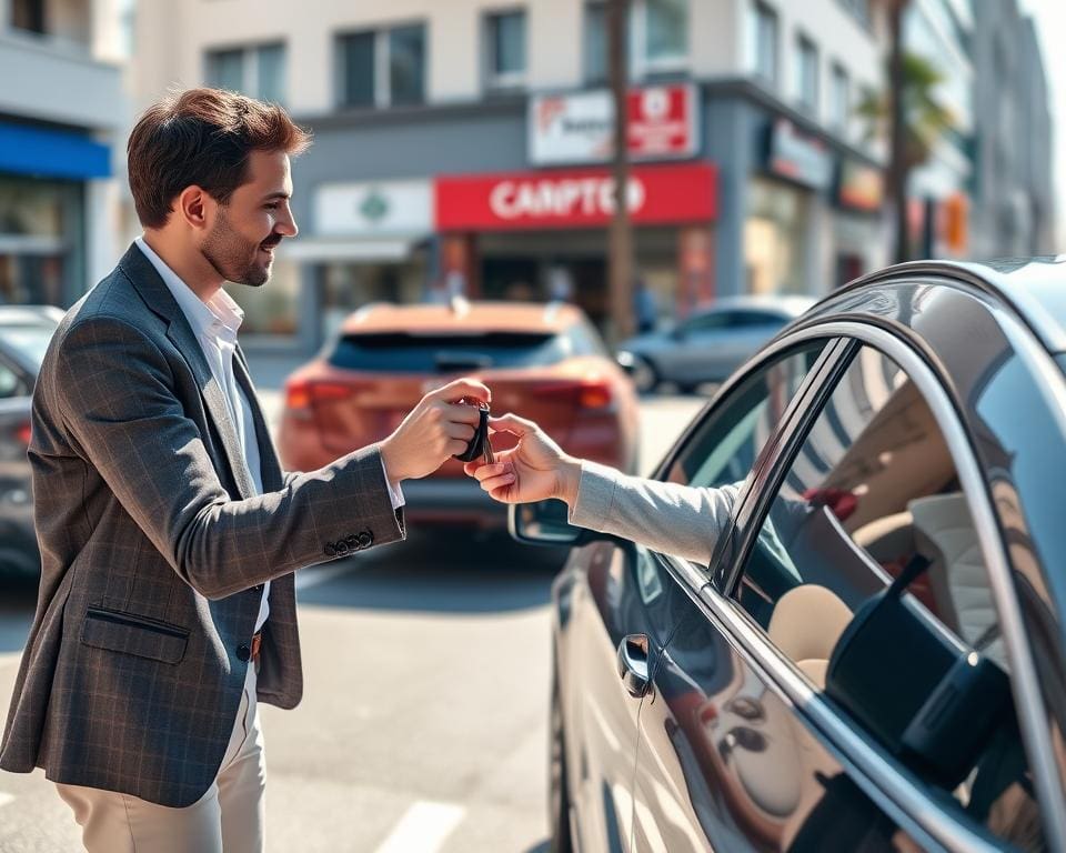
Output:
[[[145,304],[165,320],[169,325],[167,337],[181,352],[189,369],[192,371],[200,388],[208,414],[214,423],[214,429],[222,443],[222,451],[230,469],[230,474],[237,483],[241,498],[251,498],[255,494],[255,486],[248,471],[248,462],[241,452],[241,443],[237,436],[237,429],[230,418],[230,410],[225,403],[225,393],[214,380],[214,374],[208,365],[207,357],[197,335],[189,325],[184,312],[174,301],[167,283],[160,278],[152,262],[134,243],[129,248],[119,267],[133,287],[140,292]],[[258,426],[257,426],[258,431]]]

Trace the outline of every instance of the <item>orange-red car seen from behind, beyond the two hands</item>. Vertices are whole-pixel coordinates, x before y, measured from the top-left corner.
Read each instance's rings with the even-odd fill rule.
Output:
[[[285,385],[279,451],[313,470],[391,433],[426,391],[462,375],[492,409],[535,419],[573,453],[633,470],[637,401],[594,327],[564,303],[378,303],[352,314]],[[493,440],[506,449],[510,436]],[[449,460],[403,484],[412,521],[502,529],[506,511]]]

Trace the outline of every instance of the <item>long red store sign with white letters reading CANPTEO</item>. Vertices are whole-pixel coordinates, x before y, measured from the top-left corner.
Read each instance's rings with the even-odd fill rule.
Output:
[[[630,213],[638,225],[706,222],[717,214],[717,172],[708,163],[630,170]],[[614,212],[607,169],[439,177],[438,231],[602,228]]]

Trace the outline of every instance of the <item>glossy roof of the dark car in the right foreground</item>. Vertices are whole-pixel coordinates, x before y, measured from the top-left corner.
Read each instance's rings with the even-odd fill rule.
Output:
[[[859,288],[873,289],[877,284],[928,277],[953,279],[998,298],[1049,352],[1066,352],[1066,255],[985,262],[912,261],[856,279],[831,293],[824,302]]]

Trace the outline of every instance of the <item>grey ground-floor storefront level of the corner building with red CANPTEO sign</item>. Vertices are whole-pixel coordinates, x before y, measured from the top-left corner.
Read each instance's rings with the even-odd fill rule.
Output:
[[[882,168],[862,152],[748,83],[635,87],[630,102],[635,275],[661,317],[818,295],[883,263]],[[609,108],[595,90],[321,120],[293,164],[300,237],[280,287],[250,294],[249,331],[314,348],[368,301],[457,292],[567,299],[602,322]]]

